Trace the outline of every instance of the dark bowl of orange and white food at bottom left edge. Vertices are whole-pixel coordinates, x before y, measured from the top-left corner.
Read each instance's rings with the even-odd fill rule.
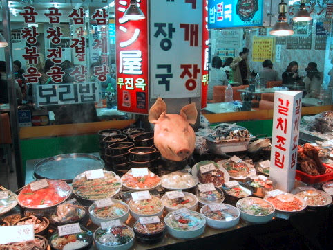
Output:
[[[60,236],[58,232],[50,237],[53,250],[88,250],[93,246],[93,233],[81,226],[80,233]]]

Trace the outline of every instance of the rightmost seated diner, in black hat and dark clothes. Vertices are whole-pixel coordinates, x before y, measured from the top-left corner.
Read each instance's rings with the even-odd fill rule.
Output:
[[[318,98],[323,84],[323,72],[319,72],[315,62],[309,62],[305,68],[307,75],[304,78],[305,91],[307,92],[305,98]]]

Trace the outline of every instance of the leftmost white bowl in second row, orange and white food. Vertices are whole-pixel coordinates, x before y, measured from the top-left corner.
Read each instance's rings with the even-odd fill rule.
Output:
[[[95,202],[89,206],[89,217],[91,221],[100,226],[101,222],[109,220],[120,220],[126,222],[129,217],[129,206],[120,200],[112,199],[111,206],[97,207]]]

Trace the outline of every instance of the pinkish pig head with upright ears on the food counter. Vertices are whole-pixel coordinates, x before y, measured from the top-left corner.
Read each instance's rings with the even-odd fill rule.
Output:
[[[162,157],[182,161],[194,151],[196,135],[189,123],[196,123],[198,111],[193,102],[180,110],[180,114],[167,114],[167,105],[158,98],[149,110],[149,122],[155,124],[154,143]]]

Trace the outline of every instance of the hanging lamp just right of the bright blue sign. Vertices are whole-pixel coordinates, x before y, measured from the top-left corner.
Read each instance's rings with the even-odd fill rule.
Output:
[[[270,35],[285,37],[287,35],[294,34],[294,30],[290,28],[285,13],[287,13],[287,3],[281,0],[281,2],[278,4],[278,21],[276,21],[276,24],[274,24],[272,30],[269,31]]]

